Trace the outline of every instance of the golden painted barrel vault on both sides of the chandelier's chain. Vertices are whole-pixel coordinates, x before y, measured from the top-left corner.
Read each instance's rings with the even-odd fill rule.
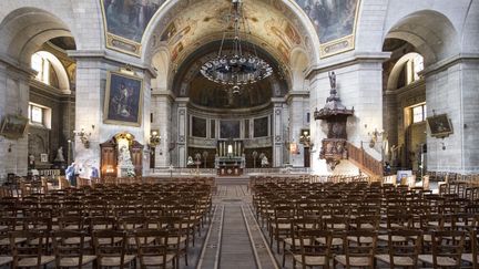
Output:
[[[164,24],[166,27],[159,27],[151,42],[153,50],[167,46],[171,61],[177,65],[201,45],[222,39],[228,24],[231,0],[190,1],[183,7],[182,12],[171,15],[175,10],[173,8],[165,15],[159,25],[167,21]],[[287,12],[284,3],[276,0],[244,0],[243,9],[251,34],[244,33],[242,39],[262,46],[284,65],[289,64],[294,48],[305,49],[308,45],[304,38],[306,34],[298,30],[298,23],[292,20],[294,15]]]

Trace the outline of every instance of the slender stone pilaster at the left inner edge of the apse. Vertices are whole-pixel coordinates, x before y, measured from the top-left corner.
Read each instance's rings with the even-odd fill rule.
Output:
[[[179,97],[177,102],[177,132],[176,132],[176,153],[177,153],[177,166],[186,167],[187,159],[187,97]]]

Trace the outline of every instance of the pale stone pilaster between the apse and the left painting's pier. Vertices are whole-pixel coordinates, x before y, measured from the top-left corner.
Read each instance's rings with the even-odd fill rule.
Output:
[[[172,103],[174,95],[171,91],[153,89],[152,92],[152,130],[160,131],[161,143],[155,148],[155,167],[167,167],[171,164],[170,143],[174,142],[172,133]]]

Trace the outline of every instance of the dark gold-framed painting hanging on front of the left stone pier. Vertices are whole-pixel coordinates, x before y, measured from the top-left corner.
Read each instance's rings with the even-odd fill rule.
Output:
[[[141,126],[143,112],[143,80],[121,72],[109,72],[103,120],[104,123]]]

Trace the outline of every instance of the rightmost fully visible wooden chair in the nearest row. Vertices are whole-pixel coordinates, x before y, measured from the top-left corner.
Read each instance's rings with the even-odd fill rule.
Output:
[[[456,267],[459,268],[465,247],[466,231],[440,230],[432,231],[431,236],[434,268],[440,267],[438,261],[444,258],[452,258],[456,260]]]

